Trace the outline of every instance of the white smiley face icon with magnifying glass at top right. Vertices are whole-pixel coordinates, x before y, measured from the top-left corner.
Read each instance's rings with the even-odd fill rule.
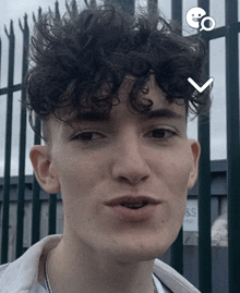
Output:
[[[187,20],[187,23],[193,27],[193,28],[200,28],[200,21],[201,19],[206,15],[206,12],[204,9],[202,8],[192,8],[188,11],[187,15],[185,15],[185,20]],[[206,27],[205,26],[205,22],[206,21],[211,21],[212,22],[212,26],[209,27]],[[216,23],[215,23],[215,20],[213,17],[209,17],[209,16],[206,16],[204,19],[202,19],[201,21],[201,28],[200,30],[212,30],[214,29]]]

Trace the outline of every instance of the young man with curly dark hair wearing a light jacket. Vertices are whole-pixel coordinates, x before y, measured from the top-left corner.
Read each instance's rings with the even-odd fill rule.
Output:
[[[156,258],[182,225],[200,145],[190,110],[208,96],[205,47],[163,19],[111,5],[36,24],[28,108],[45,145],[31,160],[40,186],[61,192],[63,235],[48,236],[0,268],[1,292],[199,292]]]

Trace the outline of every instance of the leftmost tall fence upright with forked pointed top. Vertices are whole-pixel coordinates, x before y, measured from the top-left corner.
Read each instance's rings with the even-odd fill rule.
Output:
[[[12,105],[13,105],[13,77],[14,77],[14,53],[15,36],[13,22],[10,24],[10,32],[5,28],[9,39],[9,71],[8,71],[8,100],[7,100],[7,121],[5,121],[5,161],[4,161],[4,191],[3,191],[3,217],[2,217],[2,247],[1,261],[8,261],[9,247],[9,205],[10,205],[10,164],[12,146]]]

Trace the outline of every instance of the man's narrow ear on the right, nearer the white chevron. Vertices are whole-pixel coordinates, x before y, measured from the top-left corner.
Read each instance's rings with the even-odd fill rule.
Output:
[[[188,184],[188,190],[191,190],[197,179],[199,175],[199,161],[200,161],[200,154],[201,154],[201,147],[199,142],[196,142],[195,139],[189,139],[190,145],[191,145],[191,150],[192,150],[192,171],[190,173],[189,176],[189,184]]]

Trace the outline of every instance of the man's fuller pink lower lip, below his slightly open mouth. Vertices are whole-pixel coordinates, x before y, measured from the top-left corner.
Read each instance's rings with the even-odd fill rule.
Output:
[[[157,205],[146,205],[139,209],[131,209],[121,205],[111,207],[115,215],[123,221],[139,222],[145,221],[153,217]]]

